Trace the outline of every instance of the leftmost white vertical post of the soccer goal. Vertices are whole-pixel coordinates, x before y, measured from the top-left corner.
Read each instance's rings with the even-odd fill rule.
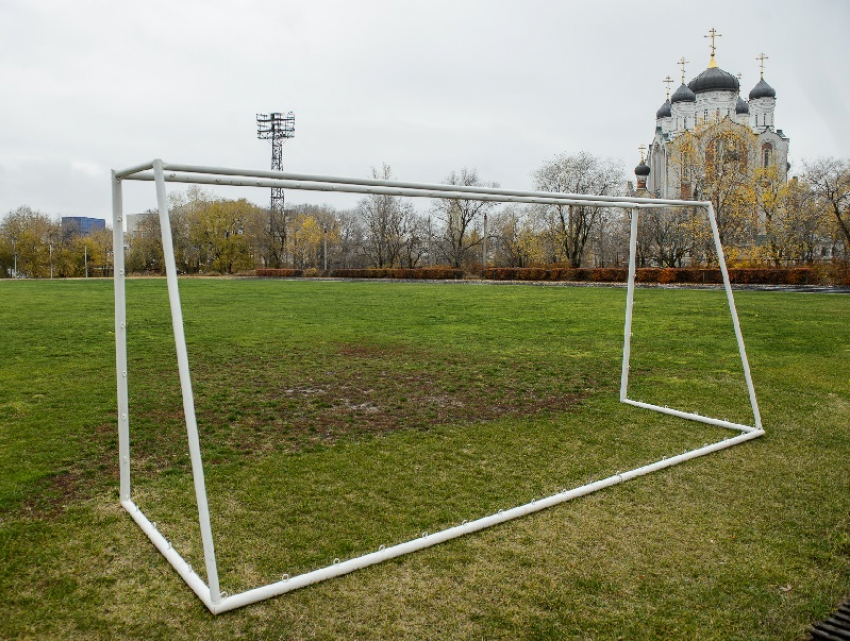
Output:
[[[127,387],[127,294],[124,274],[124,202],[112,172],[112,280],[115,283],[115,370],[118,379],[118,469],[120,496],[130,500],[130,396]]]

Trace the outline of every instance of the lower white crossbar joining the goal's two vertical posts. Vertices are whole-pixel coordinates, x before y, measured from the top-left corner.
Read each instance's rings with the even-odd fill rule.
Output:
[[[154,176],[150,172],[143,172],[130,176],[127,180],[152,181]],[[442,185],[441,189],[413,189],[409,187],[369,187],[363,185],[349,185],[336,183],[314,183],[307,181],[293,180],[277,180],[270,178],[230,178],[218,176],[206,176],[201,174],[179,174],[168,173],[165,175],[166,182],[186,183],[190,185],[219,185],[222,187],[279,187],[281,189],[299,189],[305,191],[325,191],[335,193],[351,193],[351,194],[385,194],[389,196],[401,196],[406,198],[446,198],[452,200],[480,200],[486,202],[512,202],[512,203],[528,203],[542,205],[585,205],[595,207],[623,207],[624,204],[602,200],[603,196],[598,196],[598,200],[581,199],[577,200],[572,194],[558,195],[549,193],[543,195],[498,195],[491,194],[485,191],[458,191],[454,189],[454,185]],[[535,194],[536,192],[529,192]],[[633,207],[655,208],[656,205],[642,205],[630,203]],[[688,206],[694,206],[694,203],[688,203]]]

